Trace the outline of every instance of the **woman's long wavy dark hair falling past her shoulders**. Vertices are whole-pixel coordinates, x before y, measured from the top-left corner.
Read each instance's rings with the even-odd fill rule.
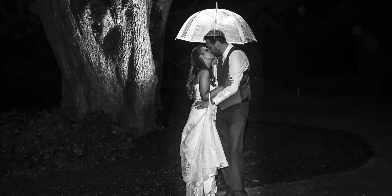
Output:
[[[199,57],[199,55],[203,55],[203,53],[201,53],[201,51],[200,51],[200,48],[203,46],[204,45],[199,45],[198,47],[195,47],[192,50],[192,54],[191,54],[191,69],[189,69],[189,74],[187,77],[188,96],[191,99],[196,99],[194,79],[201,70],[204,69],[210,73],[211,85],[213,87],[216,86],[216,84],[215,84],[216,78],[215,78],[214,74],[212,73],[212,69],[207,67],[207,65],[205,65],[204,61]]]

